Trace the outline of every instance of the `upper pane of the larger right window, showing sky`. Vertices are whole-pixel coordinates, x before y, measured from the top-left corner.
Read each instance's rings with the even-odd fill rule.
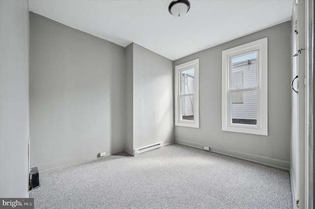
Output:
[[[231,58],[231,89],[257,87],[257,51]]]

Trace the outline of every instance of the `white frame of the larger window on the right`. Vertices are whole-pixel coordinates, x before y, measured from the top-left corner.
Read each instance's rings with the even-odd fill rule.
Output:
[[[222,131],[268,135],[268,39],[263,38],[222,51]],[[230,85],[231,57],[258,51],[257,125],[232,124]]]

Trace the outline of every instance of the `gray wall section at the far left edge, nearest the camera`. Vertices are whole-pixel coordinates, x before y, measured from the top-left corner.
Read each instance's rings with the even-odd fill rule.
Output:
[[[27,198],[29,2],[0,0],[0,197]]]

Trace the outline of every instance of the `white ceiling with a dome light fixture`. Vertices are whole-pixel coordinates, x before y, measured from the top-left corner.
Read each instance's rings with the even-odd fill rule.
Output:
[[[30,11],[126,47],[134,42],[176,60],[291,19],[293,0],[29,0]]]

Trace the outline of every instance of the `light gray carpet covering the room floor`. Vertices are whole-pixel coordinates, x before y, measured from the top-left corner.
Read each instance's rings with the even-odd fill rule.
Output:
[[[182,145],[39,174],[35,209],[292,209],[289,173]]]

